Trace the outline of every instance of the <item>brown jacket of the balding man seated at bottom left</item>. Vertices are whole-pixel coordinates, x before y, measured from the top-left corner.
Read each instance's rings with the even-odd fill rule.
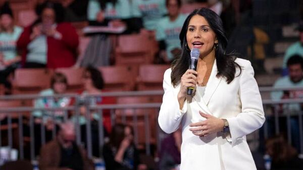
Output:
[[[83,149],[78,147],[82,159],[84,170],[93,170],[94,165],[93,162],[90,161]],[[42,146],[40,151],[40,158],[39,158],[39,169],[40,170],[65,170],[66,168],[60,168],[60,161],[61,161],[61,146],[57,139],[48,142],[44,146]]]

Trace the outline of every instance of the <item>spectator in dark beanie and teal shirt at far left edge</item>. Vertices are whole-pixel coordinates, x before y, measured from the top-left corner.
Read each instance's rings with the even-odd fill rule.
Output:
[[[16,41],[22,28],[15,26],[13,12],[8,2],[0,9],[0,83],[4,84],[6,94],[11,92],[8,76],[19,67],[21,57],[17,54]]]

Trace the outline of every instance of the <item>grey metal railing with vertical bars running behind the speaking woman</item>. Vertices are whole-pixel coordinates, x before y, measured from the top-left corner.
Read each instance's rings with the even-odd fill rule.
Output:
[[[271,88],[271,87],[266,87],[266,88],[260,88],[260,92],[271,92],[271,91],[289,91],[289,90],[303,90],[303,88]],[[85,96],[85,100],[93,97],[127,97],[127,96],[133,96],[133,97],[139,97],[139,96],[160,96],[163,95],[163,91],[139,91],[139,92],[107,92],[107,93],[102,93],[101,95],[87,95]],[[69,97],[69,98],[74,98],[76,101],[83,100],[83,96],[77,95],[77,94],[66,94],[66,95],[54,95],[54,96],[39,96],[39,95],[13,95],[13,96],[0,96],[0,100],[33,100],[33,99],[38,99],[38,98],[62,98],[62,97]],[[77,103],[77,102],[76,102]],[[269,127],[272,125],[269,124],[268,118],[273,118],[274,119],[274,129],[275,129],[275,134],[279,134],[281,132],[280,129],[280,120],[279,118],[281,117],[286,117],[286,131],[287,131],[287,140],[289,143],[292,142],[292,137],[291,136],[291,119],[293,117],[297,118],[298,120],[298,130],[299,130],[299,152],[303,153],[303,128],[302,128],[302,111],[297,112],[296,114],[292,114],[289,112],[286,112],[286,115],[281,115],[278,112],[277,107],[280,104],[303,104],[303,99],[283,99],[280,101],[272,101],[272,100],[263,100],[263,105],[264,105],[264,110],[272,110],[272,113],[266,113],[267,120],[263,126],[263,133],[260,134],[259,136],[263,135],[263,137],[266,139],[269,136],[272,136],[272,132],[269,130]],[[155,120],[149,120],[149,112],[147,110],[153,109],[154,114],[159,113],[161,103],[142,103],[142,104],[107,104],[107,105],[96,105],[96,106],[90,106],[90,105],[85,105],[86,107],[86,120],[90,120],[90,113],[93,111],[97,113],[100,117],[100,119],[97,120],[97,127],[98,127],[98,145],[103,146],[104,141],[105,141],[105,134],[104,134],[104,126],[103,126],[103,112],[104,110],[110,110],[110,117],[111,117],[111,122],[112,125],[115,124],[116,122],[116,111],[117,110],[122,110],[122,115],[121,115],[121,121],[122,123],[127,122],[127,116],[125,111],[126,109],[131,109],[134,113],[132,115],[132,124],[134,126],[134,141],[135,144],[138,144],[138,115],[135,114],[137,109],[142,109],[143,110],[143,115],[144,115],[144,134],[145,134],[145,143],[144,143],[144,148],[145,152],[147,155],[151,154],[150,153],[150,123],[152,121],[154,122],[157,127],[155,128],[155,136],[156,136],[156,145],[157,148],[160,149],[160,137],[159,134],[162,132],[159,130],[158,126],[158,121],[157,119]],[[272,109],[268,109],[272,108]],[[65,111],[64,115],[64,121],[68,120],[68,114],[67,111],[73,111],[74,115],[76,116],[76,143],[78,145],[81,144],[81,130],[80,130],[80,124],[79,124],[79,116],[80,116],[80,111],[79,111],[79,106],[74,105],[74,106],[68,106],[68,107],[62,107],[62,108],[33,108],[33,107],[18,107],[18,108],[0,108],[0,114],[7,114],[7,132],[8,132],[8,145],[12,148],[14,139],[13,139],[13,129],[17,129],[14,132],[18,132],[18,146],[19,146],[19,158],[23,159],[25,157],[24,153],[24,122],[23,122],[23,113],[25,112],[32,112],[35,110],[40,110],[40,111],[50,111],[54,113],[55,111]],[[13,124],[12,123],[12,114],[11,113],[18,113],[18,121]],[[54,115],[55,117],[55,115]],[[156,118],[158,115],[155,116]],[[36,158],[35,155],[35,139],[34,139],[34,117],[32,114],[29,114],[29,122],[27,123],[29,126],[29,131],[30,131],[30,136],[29,136],[29,142],[30,142],[30,158],[33,160]],[[13,127],[13,125],[16,125],[16,127]],[[1,122],[0,122],[0,127],[1,127]],[[92,138],[91,138],[91,122],[86,121],[85,124],[86,127],[86,149],[87,149],[87,154],[88,157],[92,157]],[[270,127],[270,128],[271,128]],[[41,124],[40,126],[41,130],[41,144],[45,144],[45,127]],[[56,127],[52,130],[52,136],[55,137],[56,135]],[[2,146],[2,131],[0,131],[0,147]],[[260,140],[258,138],[255,138],[254,140]],[[99,149],[99,154],[101,150]]]

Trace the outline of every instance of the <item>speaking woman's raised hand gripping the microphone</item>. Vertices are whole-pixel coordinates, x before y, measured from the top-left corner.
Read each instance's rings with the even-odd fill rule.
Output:
[[[186,72],[182,75],[180,80],[180,91],[178,93],[178,102],[180,109],[183,108],[184,101],[187,96],[187,88],[193,88],[195,89],[195,86],[197,84],[197,71],[188,69]]]

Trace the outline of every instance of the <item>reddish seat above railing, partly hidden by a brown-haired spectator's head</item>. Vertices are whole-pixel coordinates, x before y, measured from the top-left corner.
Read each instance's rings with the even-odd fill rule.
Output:
[[[83,68],[57,68],[55,72],[63,73],[67,78],[67,92],[79,92],[83,90]]]

